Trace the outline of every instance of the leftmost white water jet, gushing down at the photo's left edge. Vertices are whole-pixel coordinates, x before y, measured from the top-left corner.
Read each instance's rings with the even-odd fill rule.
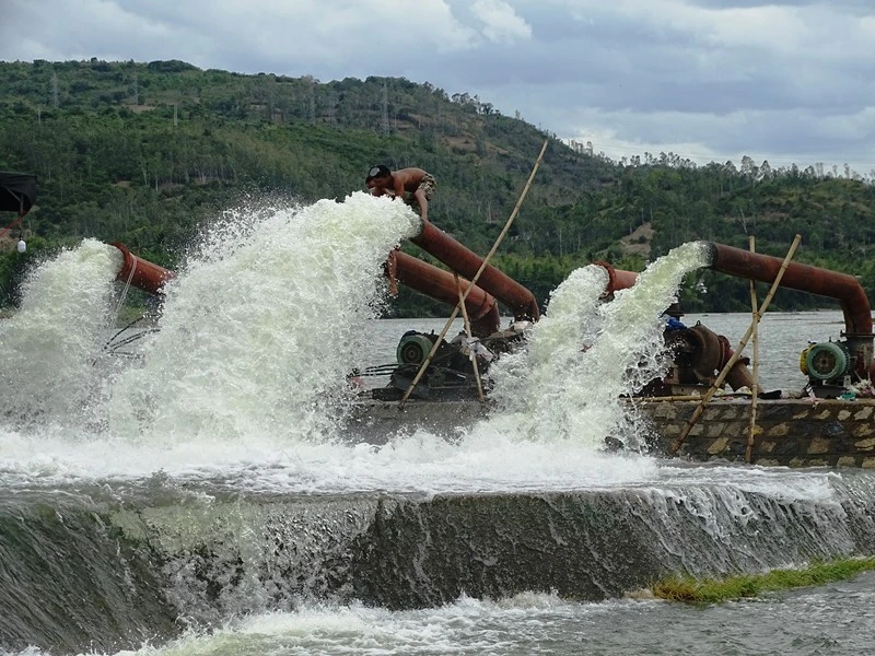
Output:
[[[26,277],[21,308],[0,321],[0,387],[13,423],[81,419],[120,267],[118,249],[85,239]]]

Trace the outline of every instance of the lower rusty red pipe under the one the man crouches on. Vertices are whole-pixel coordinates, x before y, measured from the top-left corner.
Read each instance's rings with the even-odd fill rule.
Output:
[[[389,270],[398,282],[447,305],[458,304],[458,288],[453,273],[400,250],[394,250],[389,258],[394,259],[389,262]],[[464,278],[459,278],[458,283],[464,294],[470,283]],[[471,321],[471,333],[476,337],[488,337],[499,329],[501,317],[495,297],[478,285],[474,285],[465,298],[465,309]]]

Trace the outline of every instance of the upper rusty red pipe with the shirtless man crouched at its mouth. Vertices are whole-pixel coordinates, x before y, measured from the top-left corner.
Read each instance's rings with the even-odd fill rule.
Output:
[[[422,222],[422,230],[410,241],[432,254],[453,271],[458,271],[459,276],[465,276],[468,279],[472,279],[483,263],[483,259],[480,256],[456,242],[429,221]],[[486,269],[483,269],[480,278],[477,279],[477,284],[508,305],[515,319],[534,321],[540,317],[535,294],[491,265],[487,265]]]

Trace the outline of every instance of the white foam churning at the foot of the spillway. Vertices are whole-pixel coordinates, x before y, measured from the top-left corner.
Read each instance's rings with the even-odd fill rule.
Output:
[[[582,605],[525,593],[495,602],[463,596],[455,604],[410,611],[358,604],[308,606],[296,612],[246,618],[209,635],[188,633],[163,647],[147,646],[118,656],[505,653],[521,645],[535,648],[550,640],[552,626],[609,612],[615,605]]]

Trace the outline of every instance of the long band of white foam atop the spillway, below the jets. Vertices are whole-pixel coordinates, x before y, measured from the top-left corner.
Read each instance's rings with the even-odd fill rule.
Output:
[[[343,493],[385,490],[422,494],[584,490],[653,481],[656,461],[594,452],[578,444],[486,438],[450,444],[418,432],[382,447],[343,446],[253,436],[176,445],[104,440],[70,441],[62,432],[0,434],[0,475],[9,484],[63,485],[98,480],[110,485],[161,471],[170,484],[203,482],[241,491]]]

